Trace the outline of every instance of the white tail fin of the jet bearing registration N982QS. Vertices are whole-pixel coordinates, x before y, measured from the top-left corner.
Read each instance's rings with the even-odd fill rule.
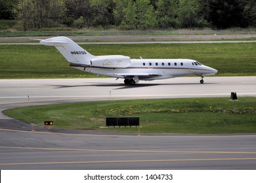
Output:
[[[53,37],[40,41],[40,44],[55,46],[70,63],[89,65],[90,60],[95,58],[68,37]]]

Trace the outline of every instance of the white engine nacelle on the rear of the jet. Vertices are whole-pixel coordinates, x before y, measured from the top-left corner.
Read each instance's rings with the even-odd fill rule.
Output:
[[[126,68],[131,65],[128,56],[97,56],[91,59],[91,66],[107,68]]]

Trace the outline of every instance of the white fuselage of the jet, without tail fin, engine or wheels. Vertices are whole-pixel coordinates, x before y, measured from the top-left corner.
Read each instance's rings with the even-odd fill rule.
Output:
[[[197,65],[196,65],[197,64]],[[199,63],[200,64],[200,63]],[[175,78],[179,76],[200,75],[209,76],[215,75],[217,70],[199,65],[193,59],[131,59],[131,65],[127,68],[104,68],[104,67],[80,67],[81,70],[96,75],[112,76],[116,78],[125,78],[125,74],[141,73],[140,80],[156,80]],[[75,67],[75,69],[78,69]],[[119,75],[121,73],[122,75]],[[144,77],[142,74],[152,75]]]

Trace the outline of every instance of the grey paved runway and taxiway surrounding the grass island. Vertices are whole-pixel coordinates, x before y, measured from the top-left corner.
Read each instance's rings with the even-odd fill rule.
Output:
[[[79,101],[256,96],[256,77],[0,80],[0,110]],[[0,169],[256,169],[256,135],[118,135],[38,128],[0,115]]]

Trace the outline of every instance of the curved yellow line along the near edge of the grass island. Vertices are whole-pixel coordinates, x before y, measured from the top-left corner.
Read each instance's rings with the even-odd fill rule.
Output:
[[[91,137],[135,137],[135,138],[149,138],[149,137],[158,137],[158,138],[175,138],[175,137],[196,137],[196,138],[207,138],[207,137],[256,137],[256,134],[251,135],[140,135],[137,133],[133,135],[100,135],[100,134],[77,134],[77,133],[54,133],[46,131],[24,131],[18,129],[4,129],[0,128],[0,131],[13,131],[19,133],[39,133],[39,134],[50,134],[50,135],[74,135],[74,136],[91,136]]]

